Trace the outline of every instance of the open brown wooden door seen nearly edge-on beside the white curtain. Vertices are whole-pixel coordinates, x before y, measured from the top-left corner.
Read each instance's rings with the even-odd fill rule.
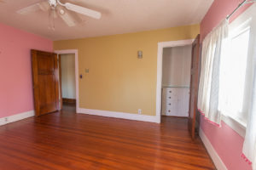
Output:
[[[189,96],[189,132],[192,139],[195,139],[197,94],[199,86],[199,61],[200,61],[200,35],[195,38],[192,44],[192,59],[190,72],[190,96]]]

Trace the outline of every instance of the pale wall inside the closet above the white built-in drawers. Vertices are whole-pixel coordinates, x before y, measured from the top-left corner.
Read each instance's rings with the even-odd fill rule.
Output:
[[[190,84],[191,45],[163,50],[163,86]]]

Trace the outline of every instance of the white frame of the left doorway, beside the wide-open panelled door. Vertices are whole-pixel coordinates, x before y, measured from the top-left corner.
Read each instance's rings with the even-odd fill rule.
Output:
[[[79,110],[79,50],[78,49],[55,50],[55,54],[58,54],[58,56],[59,54],[75,54],[76,112],[78,112]]]

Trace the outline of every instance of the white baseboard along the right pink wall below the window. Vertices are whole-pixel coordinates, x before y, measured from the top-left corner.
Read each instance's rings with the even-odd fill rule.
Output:
[[[199,129],[199,136],[200,136],[203,144],[205,145],[208,154],[211,156],[215,167],[218,170],[228,170],[228,168],[225,166],[224,162],[218,156],[218,153],[216,152],[216,150],[214,150],[211,142],[209,141],[209,139],[207,139],[206,134],[202,131],[201,128]]]

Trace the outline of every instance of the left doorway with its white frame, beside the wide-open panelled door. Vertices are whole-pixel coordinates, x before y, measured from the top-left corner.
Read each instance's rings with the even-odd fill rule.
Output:
[[[55,51],[59,59],[61,110],[79,111],[78,50]],[[75,109],[74,109],[75,108]]]

